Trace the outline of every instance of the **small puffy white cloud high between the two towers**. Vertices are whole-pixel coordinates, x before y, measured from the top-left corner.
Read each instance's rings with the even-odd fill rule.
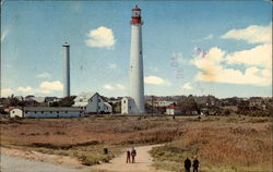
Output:
[[[85,44],[90,47],[111,48],[116,41],[112,30],[105,26],[90,30],[87,37]]]

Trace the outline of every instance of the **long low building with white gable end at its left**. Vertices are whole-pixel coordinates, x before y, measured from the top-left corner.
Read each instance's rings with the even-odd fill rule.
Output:
[[[10,111],[11,118],[81,118],[85,116],[81,108],[71,107],[25,107]]]

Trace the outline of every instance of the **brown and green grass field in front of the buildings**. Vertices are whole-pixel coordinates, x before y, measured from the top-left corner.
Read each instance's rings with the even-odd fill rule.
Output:
[[[124,147],[167,143],[151,151],[156,168],[181,171],[187,156],[198,156],[201,172],[271,170],[270,118],[24,119],[0,127],[1,146],[76,157],[86,165],[107,162]]]

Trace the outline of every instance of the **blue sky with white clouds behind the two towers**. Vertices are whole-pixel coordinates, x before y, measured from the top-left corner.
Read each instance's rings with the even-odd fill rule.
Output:
[[[145,95],[272,96],[270,1],[4,1],[1,96],[129,94],[131,9],[142,9]]]

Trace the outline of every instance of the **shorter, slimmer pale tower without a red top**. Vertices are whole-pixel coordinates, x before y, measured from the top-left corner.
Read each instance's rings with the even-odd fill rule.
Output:
[[[70,96],[70,45],[62,45],[63,97]]]

